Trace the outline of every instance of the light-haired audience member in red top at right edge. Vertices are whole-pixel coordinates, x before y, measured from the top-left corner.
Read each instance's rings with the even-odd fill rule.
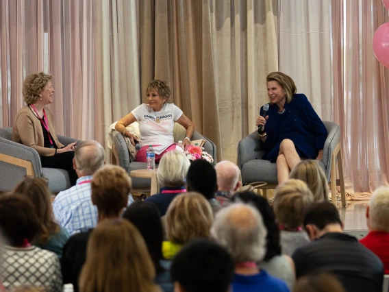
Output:
[[[366,209],[368,234],[360,240],[384,263],[385,273],[389,274],[389,188],[377,188]]]

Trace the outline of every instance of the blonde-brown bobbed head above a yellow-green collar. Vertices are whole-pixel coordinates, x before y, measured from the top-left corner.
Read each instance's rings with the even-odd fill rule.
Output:
[[[185,244],[196,237],[210,238],[214,217],[210,203],[199,193],[178,195],[166,212],[166,236],[169,241]]]

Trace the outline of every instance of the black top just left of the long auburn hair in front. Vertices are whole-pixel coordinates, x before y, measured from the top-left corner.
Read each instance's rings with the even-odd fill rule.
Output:
[[[62,250],[61,269],[64,284],[73,284],[74,291],[79,291],[78,279],[86,260],[86,245],[92,229],[71,236]]]

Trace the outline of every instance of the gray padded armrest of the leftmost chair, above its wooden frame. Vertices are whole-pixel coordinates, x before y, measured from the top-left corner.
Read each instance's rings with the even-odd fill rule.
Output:
[[[32,147],[16,143],[5,138],[0,138],[0,154],[27,160],[32,163],[35,176],[39,177],[42,175],[42,164],[40,163],[39,154]]]

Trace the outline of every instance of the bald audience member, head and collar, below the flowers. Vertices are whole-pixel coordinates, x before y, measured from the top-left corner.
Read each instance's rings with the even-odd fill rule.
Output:
[[[235,191],[242,185],[239,180],[240,169],[235,163],[223,160],[216,164],[215,171],[218,184],[216,199],[223,205],[229,202]]]

